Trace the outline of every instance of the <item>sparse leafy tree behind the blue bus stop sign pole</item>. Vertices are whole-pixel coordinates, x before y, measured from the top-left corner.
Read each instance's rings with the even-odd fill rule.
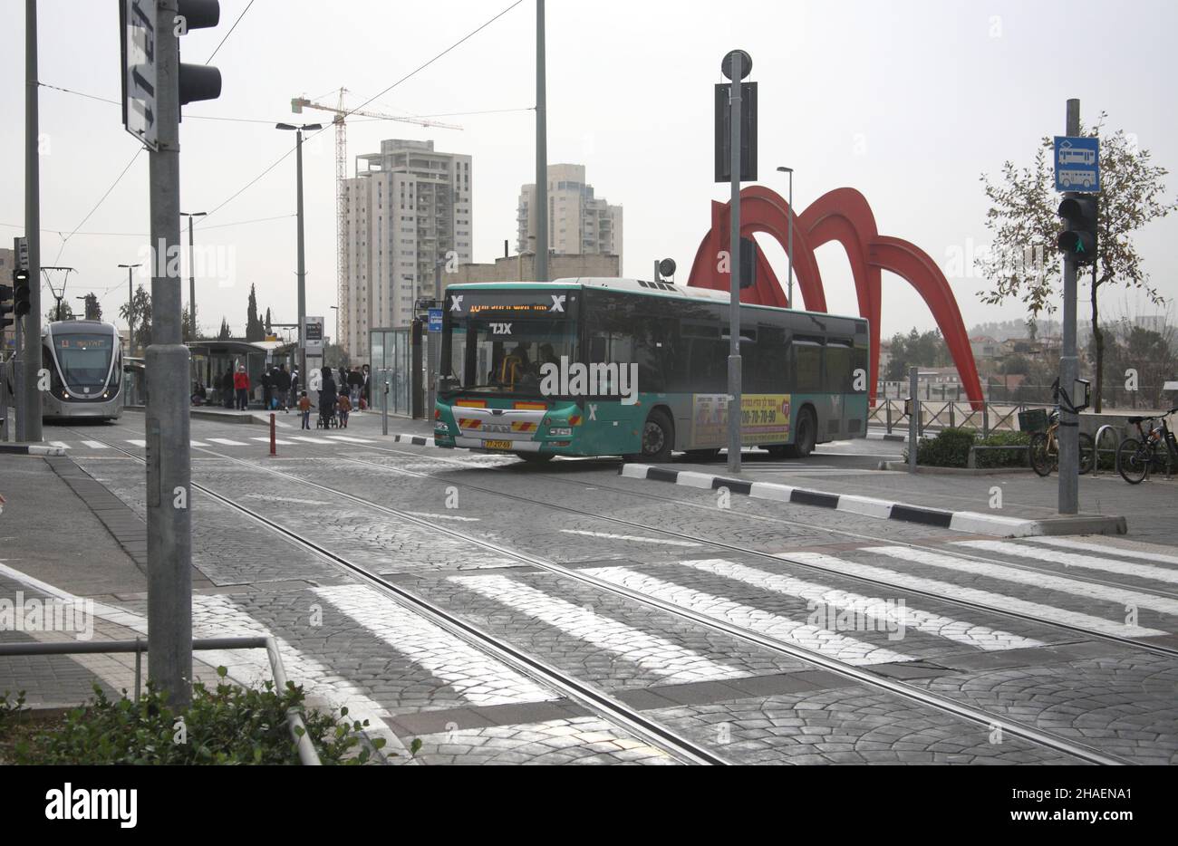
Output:
[[[1083,266],[1079,272],[1081,279],[1087,273],[1092,278],[1096,411],[1100,411],[1104,370],[1104,336],[1097,308],[1100,287],[1110,282],[1119,283],[1140,289],[1150,300],[1160,303],[1160,295],[1141,269],[1133,233],[1178,210],[1178,200],[1166,200],[1163,196],[1163,177],[1169,171],[1153,165],[1150,152],[1139,150],[1136,139],[1124,130],[1108,133],[1105,118],[1101,112],[1091,130],[1091,134],[1100,137],[1097,257],[1091,271]],[[1080,134],[1085,134],[1083,127]],[[1019,168],[1006,161],[998,183],[991,183],[985,173],[981,176],[991,201],[986,227],[994,233],[994,249],[978,259],[979,269],[992,280],[991,290],[979,291],[979,296],[990,304],[1017,297],[1027,305],[1032,317],[1044,310],[1053,311],[1063,286],[1061,262],[1055,260],[1060,222],[1052,148],[1052,139],[1044,137],[1031,166]],[[1028,257],[1032,260],[1028,262]]]

